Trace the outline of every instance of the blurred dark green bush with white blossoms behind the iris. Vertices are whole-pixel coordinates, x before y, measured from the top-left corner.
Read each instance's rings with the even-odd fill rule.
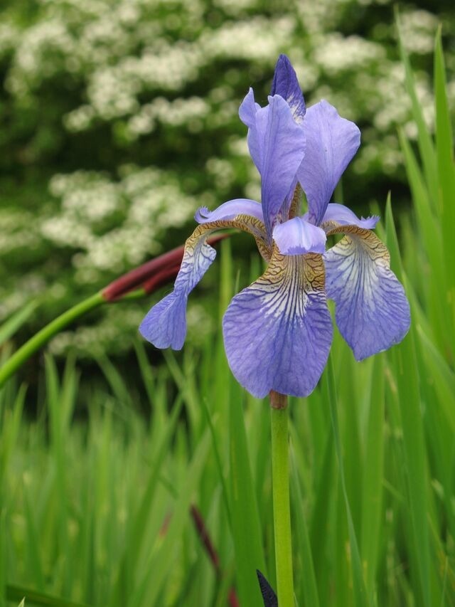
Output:
[[[288,53],[309,103],[326,97],[363,142],[345,187],[359,211],[406,199],[397,125],[416,137],[387,0],[18,0],[0,14],[0,320],[31,295],[28,329],[183,242],[194,211],[258,196],[237,109],[264,102]],[[424,118],[444,23],[455,98],[451,2],[402,5]],[[434,14],[438,11],[438,14]],[[210,276],[208,277],[210,284]],[[122,349],[144,305],[109,310],[53,352]],[[196,306],[190,320],[207,315]],[[96,317],[93,317],[94,321]],[[193,334],[194,336],[194,334]],[[101,345],[100,345],[101,344]]]

